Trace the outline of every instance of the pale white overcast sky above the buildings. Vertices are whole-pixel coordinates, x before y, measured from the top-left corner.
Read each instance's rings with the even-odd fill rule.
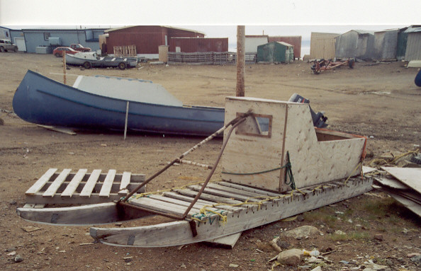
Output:
[[[63,3],[60,6],[60,3]],[[170,25],[199,30],[208,38],[229,38],[236,25],[246,35],[345,33],[421,24],[420,0],[0,0],[0,25],[19,27],[109,28],[121,25]],[[305,46],[305,45],[303,45]]]

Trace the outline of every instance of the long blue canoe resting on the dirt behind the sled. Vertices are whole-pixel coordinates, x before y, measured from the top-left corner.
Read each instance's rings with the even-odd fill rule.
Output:
[[[29,70],[16,89],[13,110],[38,125],[124,130],[127,101],[82,91]],[[208,136],[223,125],[224,108],[129,100],[128,131]]]

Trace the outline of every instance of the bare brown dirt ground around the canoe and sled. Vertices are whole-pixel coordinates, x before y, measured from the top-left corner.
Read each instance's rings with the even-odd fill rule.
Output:
[[[277,253],[267,242],[285,229],[303,225],[316,226],[324,235],[282,240],[293,248],[334,250],[326,256],[330,261],[322,270],[358,270],[370,259],[387,265],[388,270],[421,268],[407,255],[421,253],[421,220],[379,192],[305,213],[301,219],[245,231],[232,250],[202,243],[182,248],[113,247],[93,243],[87,226],[23,221],[16,215],[16,207],[25,204],[25,191],[48,168],[114,168],[118,173],[150,176],[201,138],[128,134],[123,141],[123,134],[118,133],[79,132],[72,136],[37,127],[13,115],[13,93],[28,69],[62,81],[61,59],[8,52],[0,54],[0,62],[0,118],[4,121],[0,125],[1,270],[270,270],[267,261]],[[314,110],[325,112],[330,129],[369,137],[367,149],[372,156],[366,158],[367,163],[384,152],[404,152],[420,146],[421,88],[415,86],[416,73],[417,69],[405,69],[403,62],[357,62],[354,69],[342,67],[319,75],[312,74],[310,64],[305,62],[251,64],[246,65],[245,93],[276,100],[288,100],[293,93],[299,93],[310,99]],[[184,104],[223,106],[226,96],[235,96],[236,68],[230,65],[142,64],[139,69],[123,71],[72,67],[67,74],[69,85],[76,79],[74,75],[81,74],[152,80]],[[193,152],[189,160],[213,163],[221,145],[222,140],[216,139]],[[203,180],[207,173],[202,168],[176,166],[148,185],[147,190]],[[215,178],[219,177],[220,168],[215,173]],[[147,222],[132,221],[122,226],[139,223]],[[23,231],[24,226],[40,229],[28,233]],[[338,238],[334,232],[339,229],[354,235]],[[382,238],[374,238],[376,234]],[[15,263],[16,255],[8,255],[13,251],[22,256],[22,262]],[[274,270],[297,267],[277,266]]]

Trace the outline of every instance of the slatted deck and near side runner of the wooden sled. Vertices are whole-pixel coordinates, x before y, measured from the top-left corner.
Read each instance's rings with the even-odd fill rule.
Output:
[[[179,246],[229,236],[346,200],[371,190],[371,185],[371,178],[351,178],[346,183],[343,180],[333,181],[303,189],[301,192],[304,194],[296,190],[292,194],[277,194],[246,185],[213,183],[208,185],[200,200],[194,204],[186,220],[123,229],[93,227],[90,233],[96,241],[113,246]],[[133,197],[128,203],[180,215],[197,195],[198,189],[198,185],[191,185],[189,188],[162,192],[159,195]],[[199,210],[203,207],[208,212],[200,214]],[[219,214],[226,217],[227,221],[223,221]],[[191,221],[194,221],[196,236],[192,233]]]

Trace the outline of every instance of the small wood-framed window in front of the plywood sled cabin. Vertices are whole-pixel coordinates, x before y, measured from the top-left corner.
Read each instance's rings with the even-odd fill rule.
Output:
[[[237,113],[237,117],[242,113]],[[235,134],[245,134],[253,137],[271,137],[272,116],[252,114],[235,129]]]

